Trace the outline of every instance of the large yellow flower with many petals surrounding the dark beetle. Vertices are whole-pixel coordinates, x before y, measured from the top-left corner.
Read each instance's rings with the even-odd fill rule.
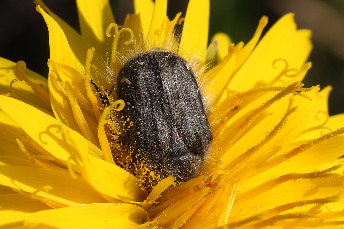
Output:
[[[343,227],[344,115],[328,116],[330,87],[302,88],[312,45],[292,14],[259,43],[266,17],[246,45],[216,34],[207,49],[209,0],[190,0],[172,21],[167,0],[135,0],[119,28],[108,1],[78,0],[82,35],[35,3],[49,79],[0,59],[3,228]],[[154,48],[198,72],[213,142],[199,176],[148,193],[116,165],[106,136],[105,117],[123,101],[104,109],[90,79],[109,89],[123,58]]]

